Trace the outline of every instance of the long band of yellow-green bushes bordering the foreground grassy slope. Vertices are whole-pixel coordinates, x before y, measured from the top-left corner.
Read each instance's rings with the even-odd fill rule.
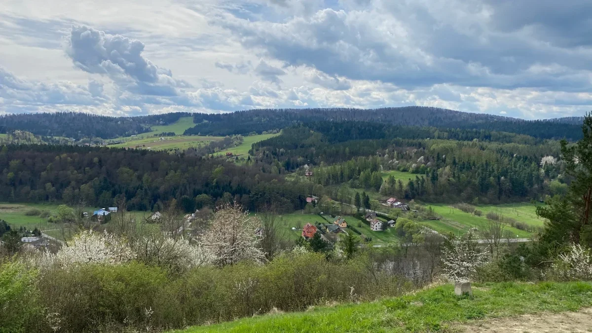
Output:
[[[374,300],[411,289],[404,277],[368,270],[367,260],[365,255],[327,260],[321,253],[284,252],[266,265],[243,261],[184,274],[137,262],[53,267],[40,277],[38,304],[50,309],[52,315],[44,318],[59,322],[60,332],[152,332],[230,321],[273,308],[294,311],[327,302]],[[26,324],[30,316],[23,318]],[[49,326],[44,318],[39,322]],[[47,331],[51,329],[27,330]]]

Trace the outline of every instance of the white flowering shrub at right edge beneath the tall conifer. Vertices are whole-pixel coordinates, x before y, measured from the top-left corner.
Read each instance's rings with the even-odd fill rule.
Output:
[[[592,254],[580,244],[572,244],[551,265],[551,276],[558,280],[592,280]]]

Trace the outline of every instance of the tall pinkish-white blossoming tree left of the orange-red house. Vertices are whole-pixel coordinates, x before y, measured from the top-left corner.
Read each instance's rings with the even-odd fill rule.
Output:
[[[216,265],[233,265],[241,260],[261,262],[265,255],[255,234],[261,225],[258,217],[243,212],[239,204],[224,204],[214,214],[202,244],[213,255]]]

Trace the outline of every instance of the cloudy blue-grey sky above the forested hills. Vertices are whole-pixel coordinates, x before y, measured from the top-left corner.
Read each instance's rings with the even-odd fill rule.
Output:
[[[592,111],[590,0],[2,0],[0,114]]]

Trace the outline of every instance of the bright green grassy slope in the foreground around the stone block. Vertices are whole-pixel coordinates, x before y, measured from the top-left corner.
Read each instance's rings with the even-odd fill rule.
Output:
[[[476,287],[475,287],[476,286]],[[198,332],[434,332],[458,323],[592,305],[592,284],[476,284],[474,298],[456,297],[451,285],[378,302],[264,315],[178,333]]]

